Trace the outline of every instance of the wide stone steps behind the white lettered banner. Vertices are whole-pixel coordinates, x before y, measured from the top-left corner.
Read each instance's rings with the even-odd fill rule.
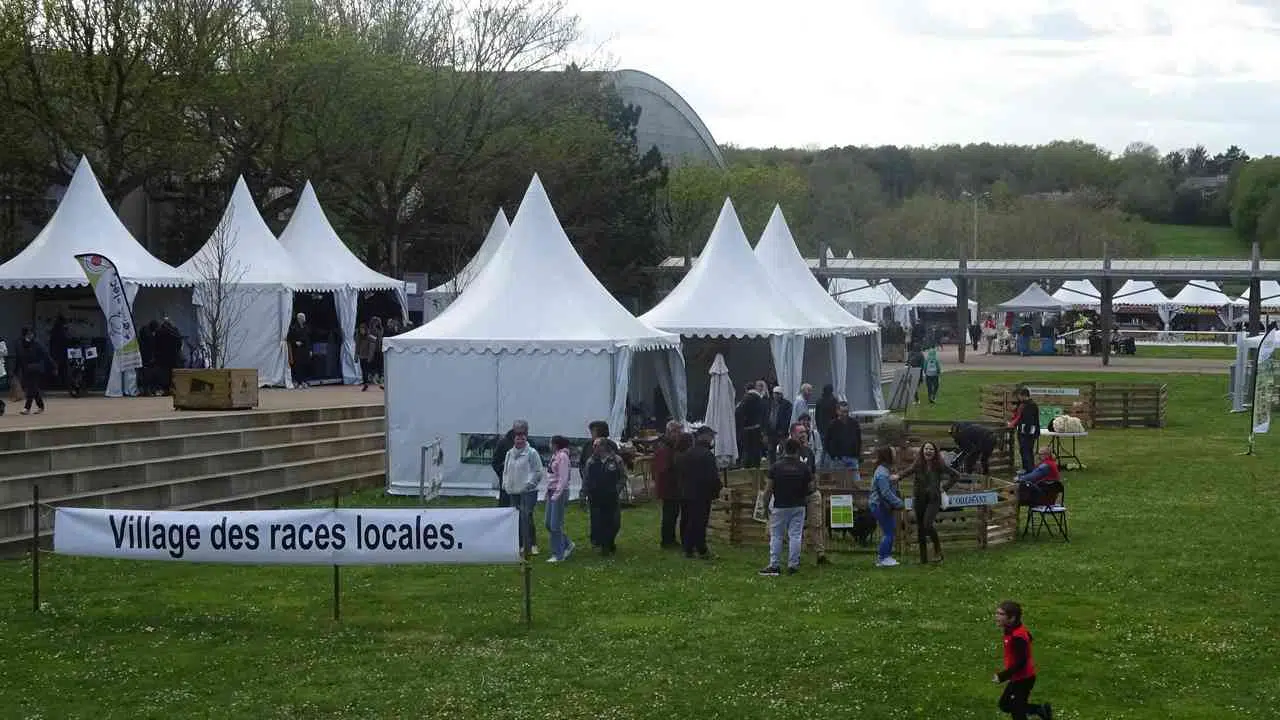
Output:
[[[3,430],[0,556],[29,547],[37,486],[54,506],[279,507],[381,486],[385,447],[380,405]]]

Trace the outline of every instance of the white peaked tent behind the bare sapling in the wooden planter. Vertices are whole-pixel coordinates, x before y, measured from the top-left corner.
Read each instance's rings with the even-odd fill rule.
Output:
[[[293,387],[285,334],[293,320],[293,291],[328,292],[337,283],[306,281],[262,215],[244,178],[209,241],[178,270],[196,284],[193,302],[207,343],[211,315],[223,318],[224,368],[252,368],[264,387]],[[220,300],[219,300],[220,299]]]

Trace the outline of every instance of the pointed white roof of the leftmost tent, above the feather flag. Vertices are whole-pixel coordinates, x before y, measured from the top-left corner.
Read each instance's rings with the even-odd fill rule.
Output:
[[[82,287],[76,255],[95,252],[115,264],[120,278],[143,287],[189,287],[191,281],[146,251],[106,202],[93,168],[81,158],[58,210],[36,240],[0,265],[0,288]]]

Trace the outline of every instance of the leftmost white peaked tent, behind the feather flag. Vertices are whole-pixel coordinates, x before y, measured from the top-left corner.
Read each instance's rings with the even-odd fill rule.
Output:
[[[0,337],[14,338],[20,327],[36,327],[35,288],[88,287],[76,260],[76,255],[84,252],[96,252],[115,264],[136,323],[163,313],[172,313],[180,323],[179,310],[191,306],[189,292],[160,290],[187,288],[191,281],[154,258],[129,234],[102,195],[88,160],[81,158],[54,217],[22,252],[0,265]],[[147,293],[140,307],[136,300],[143,287]],[[46,340],[41,337],[41,342]],[[116,370],[113,360],[108,397],[136,392],[133,373]]]

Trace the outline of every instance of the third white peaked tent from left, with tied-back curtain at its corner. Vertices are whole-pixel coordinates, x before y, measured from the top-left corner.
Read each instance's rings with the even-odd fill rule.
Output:
[[[402,316],[408,318],[404,283],[371,270],[351,252],[325,217],[311,181],[302,187],[302,196],[298,197],[298,205],[289,217],[289,224],[280,233],[280,245],[293,258],[300,275],[306,282],[319,282],[333,288],[333,304],[342,331],[342,382],[358,383],[356,311],[360,305],[360,292],[370,290],[394,292]]]

